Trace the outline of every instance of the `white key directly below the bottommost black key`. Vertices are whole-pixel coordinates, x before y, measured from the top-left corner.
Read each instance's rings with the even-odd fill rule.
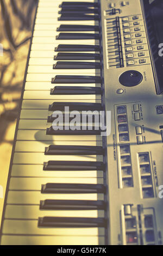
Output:
[[[5,219],[3,234],[26,235],[104,235],[104,228],[38,228],[38,221],[13,221]]]

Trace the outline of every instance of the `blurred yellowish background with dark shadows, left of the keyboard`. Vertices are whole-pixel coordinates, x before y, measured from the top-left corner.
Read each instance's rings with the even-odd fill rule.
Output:
[[[3,56],[0,56],[1,186],[7,182],[36,5],[37,0],[0,0],[0,43],[3,46]]]

